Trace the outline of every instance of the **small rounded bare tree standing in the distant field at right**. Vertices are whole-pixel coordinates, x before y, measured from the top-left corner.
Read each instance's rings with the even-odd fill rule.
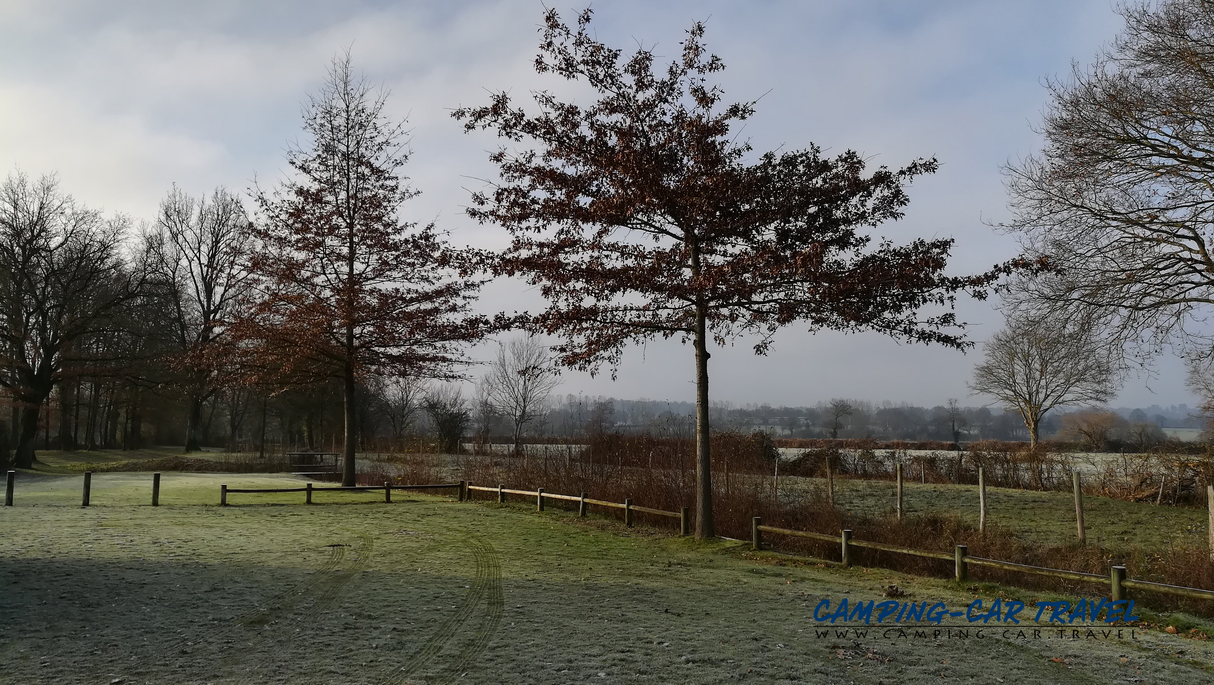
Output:
[[[1102,404],[1117,390],[1117,364],[1088,325],[1010,320],[982,347],[970,389],[1020,412],[1036,445],[1049,410]]]

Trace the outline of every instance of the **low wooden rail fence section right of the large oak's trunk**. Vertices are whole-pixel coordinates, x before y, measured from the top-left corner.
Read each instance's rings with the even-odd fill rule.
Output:
[[[804,530],[792,530],[792,529],[779,529],[775,526],[762,525],[762,518],[755,516],[750,526],[750,548],[759,550],[762,549],[762,533],[770,532],[776,535],[787,535],[792,537],[804,537],[810,540],[821,540],[824,542],[836,542],[839,543],[839,563],[843,566],[851,566],[851,548],[862,547],[867,549],[878,549],[881,552],[892,552],[895,554],[909,554],[913,556],[926,556],[929,559],[940,559],[942,561],[953,561],[953,577],[957,581],[965,581],[969,577],[969,565],[975,566],[987,566],[991,569],[1000,569],[1004,571],[1016,571],[1020,573],[1029,573],[1034,576],[1050,576],[1055,578],[1065,578],[1068,581],[1079,581],[1085,583],[1100,583],[1110,586],[1110,598],[1113,600],[1125,599],[1127,588],[1138,588],[1147,592],[1157,592],[1163,594],[1174,594],[1180,596],[1187,596],[1191,599],[1214,599],[1214,590],[1203,590],[1198,588],[1186,588],[1181,586],[1169,586],[1164,583],[1152,583],[1150,581],[1135,581],[1125,577],[1125,566],[1111,566],[1107,576],[1101,576],[1099,573],[1083,573],[1079,571],[1066,571],[1062,569],[1045,569],[1042,566],[1029,566],[1027,564],[1012,564],[1011,561],[1000,561],[998,559],[983,559],[981,556],[970,556],[969,547],[964,544],[958,544],[953,553],[947,552],[934,552],[930,549],[915,549],[913,547],[902,547],[900,544],[886,544],[884,542],[869,542],[867,540],[855,540],[851,537],[850,530],[841,530],[839,535],[827,535],[822,532],[811,532]]]

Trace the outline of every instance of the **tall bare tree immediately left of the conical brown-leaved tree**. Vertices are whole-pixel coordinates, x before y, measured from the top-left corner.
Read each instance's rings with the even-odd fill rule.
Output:
[[[240,199],[223,188],[195,200],[175,187],[160,202],[157,227],[160,233],[151,239],[170,286],[177,364],[186,373],[189,401],[186,451],[192,452],[200,449],[203,405],[223,382],[216,347],[248,291],[249,219]]]

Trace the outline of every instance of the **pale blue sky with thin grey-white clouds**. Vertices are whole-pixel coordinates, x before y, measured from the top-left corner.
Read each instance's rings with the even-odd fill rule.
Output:
[[[572,19],[584,5],[551,5]],[[728,99],[759,99],[742,136],[756,150],[815,143],[870,164],[937,156],[910,187],[904,219],[874,232],[895,242],[953,238],[951,272],[986,270],[1016,255],[1000,166],[1032,154],[1045,79],[1088,63],[1121,28],[1108,0],[599,1],[594,32],[608,45],[677,53],[696,21],[727,65]],[[464,215],[493,178],[492,133],[465,135],[450,110],[490,91],[516,98],[560,87],[537,75],[545,5],[500,1],[209,0],[68,2],[0,0],[0,172],[57,173],[64,190],[107,213],[151,219],[177,184],[198,195],[245,192],[284,177],[300,107],[335,55],[381,84],[407,119],[404,169],[421,195],[402,215],[456,244],[498,247],[505,233]],[[517,282],[487,287],[487,312],[537,309]],[[832,398],[943,404],[969,396],[981,342],[1002,326],[997,302],[958,307],[968,354],[900,344],[875,333],[789,326],[771,353],[747,338],[713,353],[714,400],[813,405]],[[472,350],[488,359],[493,346]],[[606,371],[606,370],[605,370]],[[480,372],[473,366],[471,373]],[[617,378],[566,371],[561,393],[688,400],[693,352],[677,341],[630,349]],[[1138,372],[1112,404],[1196,403],[1170,355]]]

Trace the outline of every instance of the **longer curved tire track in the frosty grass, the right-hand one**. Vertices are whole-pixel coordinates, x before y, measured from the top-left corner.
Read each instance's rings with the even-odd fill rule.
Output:
[[[439,628],[413,653],[402,666],[387,674],[380,685],[404,685],[408,679],[418,672],[425,669],[443,651],[443,649],[456,638],[464,624],[477,612],[481,600],[486,599],[486,607],[481,617],[481,629],[476,638],[467,644],[456,657],[455,663],[442,670],[441,680],[450,679],[456,672],[480,656],[501,623],[504,609],[504,593],[501,589],[501,564],[498,561],[498,553],[488,543],[477,538],[465,538],[461,542],[472,552],[476,560],[476,577],[472,588],[465,596],[464,605],[453,613]]]

